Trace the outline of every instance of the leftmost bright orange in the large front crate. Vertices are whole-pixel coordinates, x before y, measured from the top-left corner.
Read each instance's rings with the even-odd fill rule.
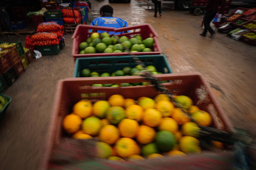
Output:
[[[77,115],[67,115],[63,119],[63,128],[68,133],[75,133],[81,128],[82,119]]]

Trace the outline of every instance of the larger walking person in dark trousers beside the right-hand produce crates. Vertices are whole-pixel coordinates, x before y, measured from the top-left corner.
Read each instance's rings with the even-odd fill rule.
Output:
[[[200,36],[205,37],[207,30],[210,32],[211,36],[215,34],[215,31],[210,26],[212,19],[217,14],[218,6],[221,4],[221,0],[208,0],[206,6],[206,13],[204,15],[204,31],[199,34]]]

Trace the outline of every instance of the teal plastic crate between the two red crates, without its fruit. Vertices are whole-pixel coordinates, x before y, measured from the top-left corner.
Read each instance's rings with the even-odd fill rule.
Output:
[[[154,65],[158,72],[172,73],[165,55],[139,55],[137,56],[146,66]],[[88,68],[90,71],[113,73],[122,70],[124,67],[135,67],[138,65],[129,56],[106,56],[106,57],[85,57],[77,58],[73,77],[80,77],[81,70]]]

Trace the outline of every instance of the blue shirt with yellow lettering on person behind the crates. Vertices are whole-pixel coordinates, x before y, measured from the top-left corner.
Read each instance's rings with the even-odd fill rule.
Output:
[[[114,27],[114,28],[123,28],[128,27],[128,24],[126,21],[122,20],[121,18],[115,18],[115,17],[97,17],[92,22],[91,25],[94,26],[102,26],[102,27]],[[92,31],[92,30],[90,30]],[[106,31],[97,31],[98,33],[103,33]],[[129,32],[129,31],[128,31]],[[114,32],[109,32],[109,34],[113,34]],[[114,34],[121,34],[114,33]]]

